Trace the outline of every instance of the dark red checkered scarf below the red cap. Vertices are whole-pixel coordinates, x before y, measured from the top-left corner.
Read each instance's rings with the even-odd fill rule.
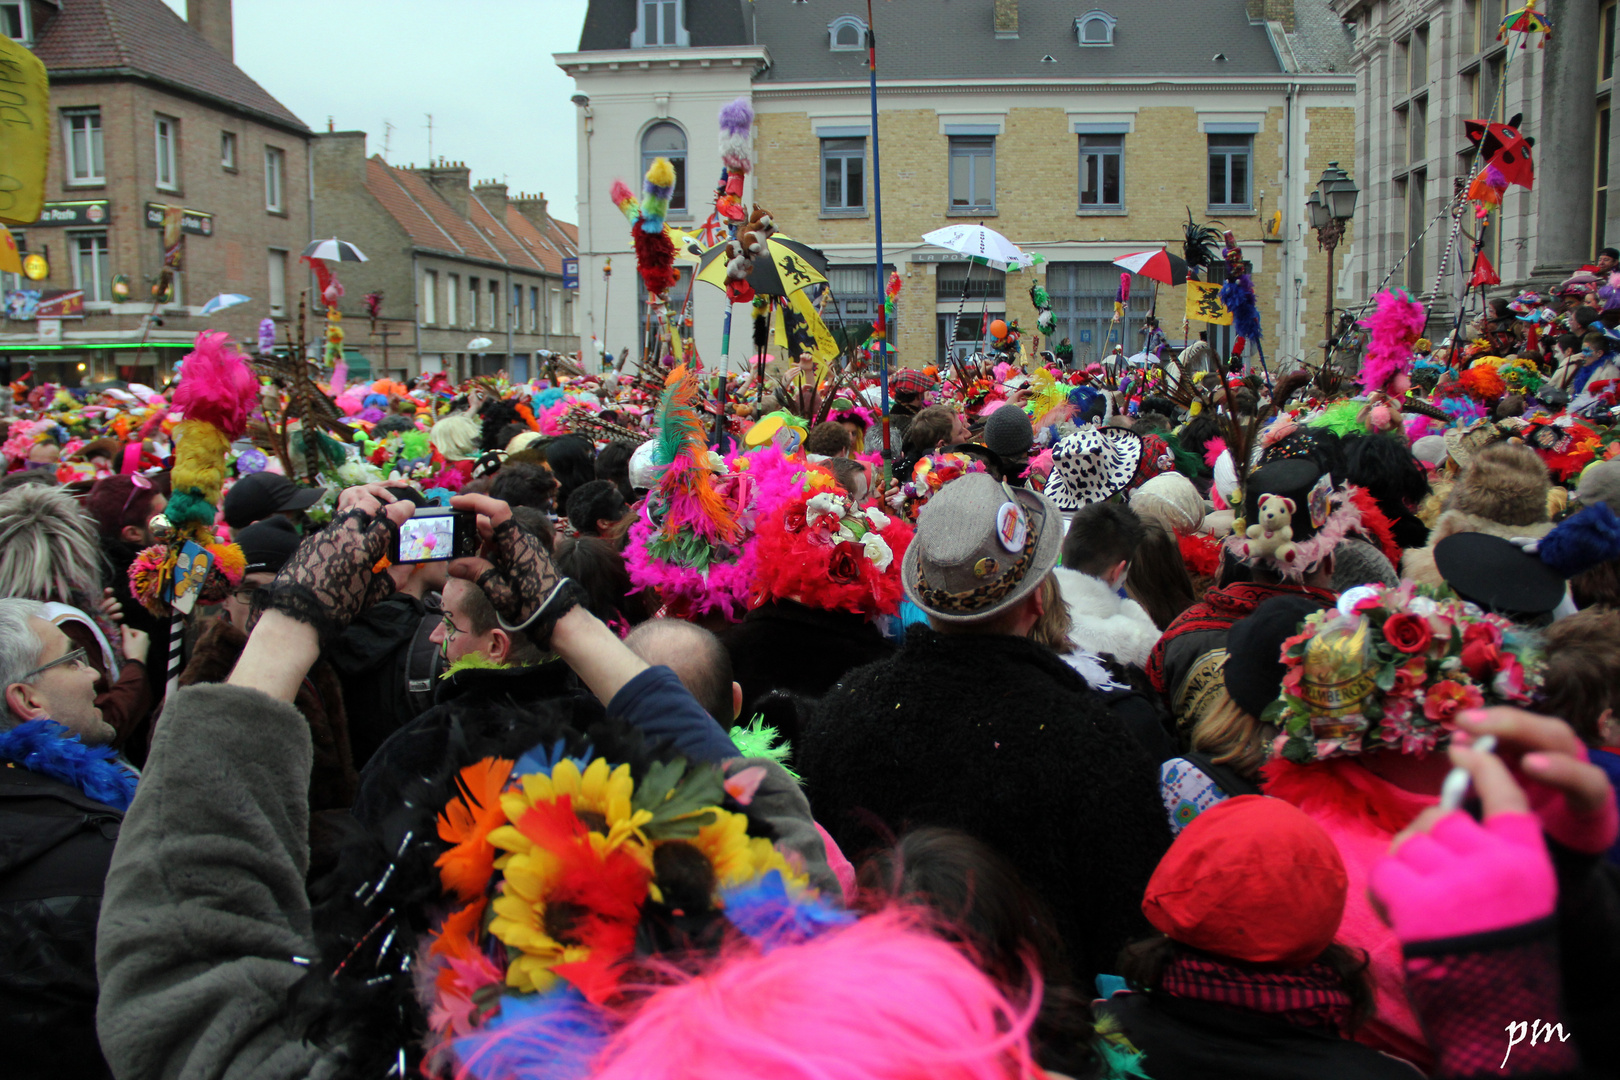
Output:
[[[1181,955],[1165,967],[1160,989],[1176,997],[1264,1012],[1302,1028],[1349,1025],[1349,994],[1327,963],[1277,970],[1252,963]]]

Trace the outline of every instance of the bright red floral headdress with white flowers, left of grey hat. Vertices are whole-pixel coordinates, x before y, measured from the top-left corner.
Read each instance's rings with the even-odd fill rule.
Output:
[[[821,610],[893,615],[904,588],[901,559],[912,529],[855,505],[821,470],[805,473],[805,491],[760,517],[755,589],[761,599],[797,599]]]

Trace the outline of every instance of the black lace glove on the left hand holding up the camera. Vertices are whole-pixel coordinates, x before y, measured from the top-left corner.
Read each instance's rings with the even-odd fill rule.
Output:
[[[394,591],[394,580],[374,573],[399,531],[384,513],[353,508],[305,538],[267,593],[267,607],[314,627],[321,643]]]

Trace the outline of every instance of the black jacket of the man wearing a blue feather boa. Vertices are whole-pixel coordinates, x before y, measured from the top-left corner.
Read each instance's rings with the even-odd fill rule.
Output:
[[[110,1077],[96,1041],[96,920],[123,814],[0,766],[0,1046],[8,1078]]]

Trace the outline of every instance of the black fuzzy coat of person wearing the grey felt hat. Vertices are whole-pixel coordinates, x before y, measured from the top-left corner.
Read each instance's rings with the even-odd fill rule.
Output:
[[[1157,764],[1040,644],[912,627],[893,659],[821,698],[794,759],[852,858],[881,829],[925,824],[1008,857],[1053,908],[1081,984],[1149,933],[1142,891],[1170,845]]]

